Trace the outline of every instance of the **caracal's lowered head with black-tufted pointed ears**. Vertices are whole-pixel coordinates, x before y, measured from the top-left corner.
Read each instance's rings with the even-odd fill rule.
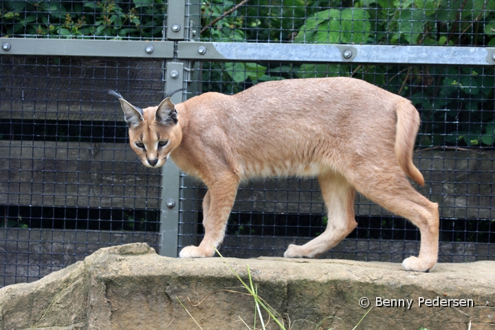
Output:
[[[142,164],[150,168],[164,166],[170,152],[182,140],[177,110],[170,97],[157,107],[139,109],[115,91],[109,93],[120,100],[124,119],[129,125],[131,148],[140,157]]]

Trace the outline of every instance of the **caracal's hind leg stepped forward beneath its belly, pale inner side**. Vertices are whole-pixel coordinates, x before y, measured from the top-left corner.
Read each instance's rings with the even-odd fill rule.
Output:
[[[347,179],[340,174],[326,173],[320,175],[318,181],[328,209],[327,229],[305,245],[289,245],[284,253],[286,258],[316,258],[340,243],[358,225],[354,217],[355,189]]]

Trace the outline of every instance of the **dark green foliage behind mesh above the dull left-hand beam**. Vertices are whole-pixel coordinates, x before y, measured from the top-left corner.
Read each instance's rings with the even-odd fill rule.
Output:
[[[3,1],[1,36],[162,38],[164,0]]]

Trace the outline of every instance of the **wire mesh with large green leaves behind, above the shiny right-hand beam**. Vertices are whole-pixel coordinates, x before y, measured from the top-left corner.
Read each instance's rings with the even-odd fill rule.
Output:
[[[207,41],[494,45],[493,1],[201,1]],[[225,14],[227,13],[227,14]]]

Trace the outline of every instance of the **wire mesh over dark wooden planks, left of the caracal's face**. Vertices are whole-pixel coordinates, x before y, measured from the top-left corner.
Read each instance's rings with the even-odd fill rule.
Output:
[[[115,89],[163,96],[163,62],[0,57],[0,274],[34,281],[104,246],[159,248],[159,170],[136,162]]]

